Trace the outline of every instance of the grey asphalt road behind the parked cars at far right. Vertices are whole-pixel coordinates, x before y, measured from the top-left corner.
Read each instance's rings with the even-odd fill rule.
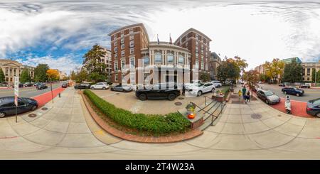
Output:
[[[282,87],[278,85],[269,85],[269,84],[258,84],[262,89],[268,89],[274,94],[277,94],[279,97],[284,98],[286,95],[283,94],[281,91]],[[304,95],[302,97],[297,97],[294,95],[290,95],[290,98],[293,100],[301,101],[301,102],[308,102],[310,99],[316,99],[320,97],[320,89],[304,89]]]

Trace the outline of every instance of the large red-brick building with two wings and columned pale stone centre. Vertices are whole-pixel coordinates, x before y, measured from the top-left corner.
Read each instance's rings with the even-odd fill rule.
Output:
[[[188,82],[209,73],[210,38],[194,28],[170,42],[151,42],[143,23],[124,26],[111,38],[112,82]]]

